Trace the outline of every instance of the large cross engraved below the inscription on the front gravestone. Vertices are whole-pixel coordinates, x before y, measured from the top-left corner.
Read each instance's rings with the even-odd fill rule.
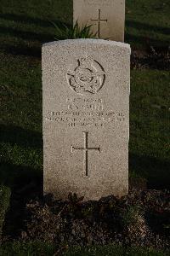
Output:
[[[84,134],[84,147],[83,148],[77,148],[71,146],[71,153],[73,153],[74,150],[82,150],[84,151],[84,166],[85,166],[85,173],[86,176],[88,176],[88,150],[96,150],[100,151],[100,148],[88,148],[88,131],[82,131]]]

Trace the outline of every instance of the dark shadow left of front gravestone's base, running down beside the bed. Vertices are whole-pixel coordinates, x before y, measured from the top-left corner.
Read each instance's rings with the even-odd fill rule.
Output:
[[[12,192],[3,234],[14,238],[19,236],[24,225],[26,204],[37,197],[42,198],[42,171],[8,162],[1,163],[0,170],[0,183],[8,186]]]

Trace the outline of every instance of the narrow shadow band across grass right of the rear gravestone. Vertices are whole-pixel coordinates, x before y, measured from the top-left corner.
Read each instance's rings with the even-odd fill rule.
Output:
[[[170,34],[169,27],[152,26],[150,24],[142,23],[136,20],[126,20],[126,26],[136,28],[137,30],[144,30],[148,32],[160,32],[161,34]]]

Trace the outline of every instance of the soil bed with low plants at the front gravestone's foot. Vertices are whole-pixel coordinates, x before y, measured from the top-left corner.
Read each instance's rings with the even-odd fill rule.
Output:
[[[59,247],[116,242],[166,250],[170,242],[170,192],[145,189],[144,181],[133,184],[139,188],[131,185],[129,194],[121,199],[110,195],[85,202],[71,194],[67,201],[36,195],[31,184],[33,200],[21,203],[20,193],[15,195],[3,241],[53,241]]]

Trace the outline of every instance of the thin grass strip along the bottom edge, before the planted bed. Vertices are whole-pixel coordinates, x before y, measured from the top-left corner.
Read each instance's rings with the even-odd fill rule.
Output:
[[[109,245],[105,247],[71,247],[68,251],[63,247],[62,255],[65,256],[166,256],[166,253],[157,252],[153,248],[139,247],[121,247],[118,245]],[[66,251],[66,252],[65,252]],[[58,250],[53,244],[47,242],[31,243],[8,243],[0,247],[0,256],[53,256],[59,255]],[[65,252],[65,253],[64,253]]]

